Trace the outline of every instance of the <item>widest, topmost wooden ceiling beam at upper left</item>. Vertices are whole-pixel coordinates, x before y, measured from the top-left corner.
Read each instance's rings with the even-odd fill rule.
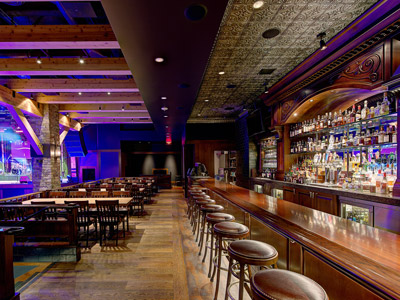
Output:
[[[0,26],[2,50],[119,48],[110,25]]]

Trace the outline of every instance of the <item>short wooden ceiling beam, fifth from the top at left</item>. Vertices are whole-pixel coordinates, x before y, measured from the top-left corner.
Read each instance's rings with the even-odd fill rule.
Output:
[[[101,107],[101,109],[99,109]],[[67,112],[122,112],[124,109],[125,112],[147,112],[146,106],[141,104],[140,106],[131,106],[131,105],[123,105],[123,104],[60,104],[59,112],[67,113]]]

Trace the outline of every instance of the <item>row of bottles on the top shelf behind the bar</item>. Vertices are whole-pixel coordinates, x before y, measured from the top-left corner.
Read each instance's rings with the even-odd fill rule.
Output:
[[[291,125],[290,137],[388,115],[396,111],[394,102],[390,102],[385,93],[383,102],[378,102],[376,107],[368,107],[368,101],[365,100],[362,109],[361,105],[356,108],[354,104],[351,109],[343,112],[339,110],[339,112],[335,111],[333,114],[329,112],[322,116],[318,115],[317,118]]]

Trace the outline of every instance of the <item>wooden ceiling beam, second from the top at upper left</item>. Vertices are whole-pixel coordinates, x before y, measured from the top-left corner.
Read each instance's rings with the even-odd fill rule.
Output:
[[[0,76],[131,75],[124,58],[1,58]]]

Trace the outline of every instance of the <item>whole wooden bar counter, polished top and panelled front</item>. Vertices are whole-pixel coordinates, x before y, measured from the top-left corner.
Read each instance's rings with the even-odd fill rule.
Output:
[[[330,299],[400,299],[399,235],[214,179],[198,182],[243,212],[237,221],[277,248],[280,268],[316,280]]]

